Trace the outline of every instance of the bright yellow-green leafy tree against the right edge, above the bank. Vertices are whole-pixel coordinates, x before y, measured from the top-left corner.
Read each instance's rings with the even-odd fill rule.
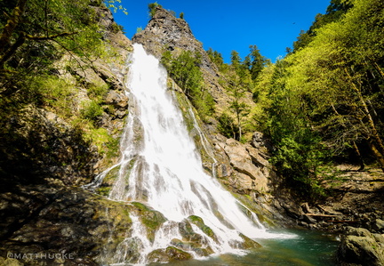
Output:
[[[384,169],[384,3],[356,0],[305,48],[287,58],[287,84],[305,93],[309,120],[334,152],[366,143]]]

